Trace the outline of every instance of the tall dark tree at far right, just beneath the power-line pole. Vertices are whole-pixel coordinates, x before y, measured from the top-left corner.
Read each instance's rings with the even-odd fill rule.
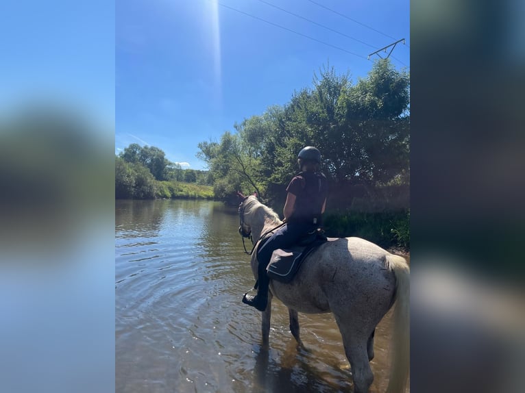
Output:
[[[343,125],[354,136],[350,179],[376,185],[408,171],[410,77],[388,60],[345,92]]]

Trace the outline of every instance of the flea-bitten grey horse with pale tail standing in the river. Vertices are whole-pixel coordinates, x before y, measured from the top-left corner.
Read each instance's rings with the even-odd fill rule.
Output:
[[[239,206],[241,234],[254,244],[263,233],[282,224],[279,216],[255,196]],[[256,252],[252,270],[257,279]],[[290,330],[300,339],[297,312],[332,312],[343,338],[354,375],[354,392],[368,392],[374,380],[369,361],[374,357],[376,326],[397,301],[394,311],[389,393],[406,388],[409,363],[409,268],[403,257],[392,255],[360,238],[339,238],[322,244],[304,260],[290,283],[270,281],[268,306],[262,312],[262,341],[268,344],[271,299],[276,296],[289,309]]]

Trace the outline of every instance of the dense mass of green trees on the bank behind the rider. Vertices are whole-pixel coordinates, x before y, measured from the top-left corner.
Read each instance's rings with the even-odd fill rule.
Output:
[[[200,143],[198,156],[215,178],[217,197],[241,188],[273,199],[297,172],[306,145],[321,150],[332,189],[406,183],[409,89],[408,73],[389,60],[376,61],[356,84],[327,66],[283,107],[236,123],[219,142]]]

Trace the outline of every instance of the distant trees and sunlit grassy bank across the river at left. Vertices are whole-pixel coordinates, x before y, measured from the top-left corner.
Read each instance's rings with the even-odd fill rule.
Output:
[[[208,171],[182,169],[158,147],[134,143],[115,157],[116,199],[213,199],[211,185]]]

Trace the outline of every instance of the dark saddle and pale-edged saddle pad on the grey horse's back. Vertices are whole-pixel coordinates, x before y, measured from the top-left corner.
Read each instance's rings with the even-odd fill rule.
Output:
[[[295,277],[304,258],[327,241],[324,231],[318,228],[313,233],[308,233],[297,245],[289,249],[276,249],[271,254],[266,268],[268,277],[282,283],[289,283]]]

